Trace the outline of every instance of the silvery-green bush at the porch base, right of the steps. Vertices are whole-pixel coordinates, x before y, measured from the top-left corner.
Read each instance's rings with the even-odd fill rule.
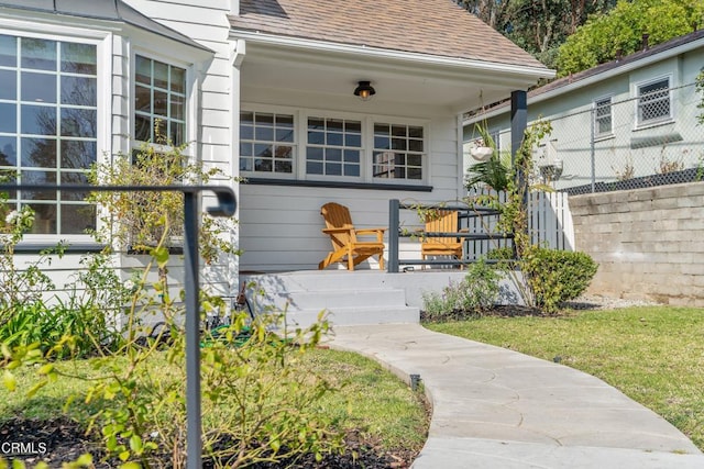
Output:
[[[499,294],[499,272],[484,259],[472,264],[460,282],[450,281],[441,293],[424,292],[424,320],[447,321],[466,315],[482,315]]]

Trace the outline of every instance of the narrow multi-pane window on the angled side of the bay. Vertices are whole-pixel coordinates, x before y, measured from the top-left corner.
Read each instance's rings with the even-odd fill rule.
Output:
[[[136,56],[134,74],[134,137],[172,145],[186,142],[186,70]],[[155,132],[160,123],[158,135]]]

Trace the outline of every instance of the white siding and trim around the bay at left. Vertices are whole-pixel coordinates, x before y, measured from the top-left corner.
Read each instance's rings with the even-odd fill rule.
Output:
[[[227,175],[234,175],[237,166],[232,158],[231,123],[231,80],[232,67],[228,42],[229,24],[226,15],[230,5],[219,0],[211,1],[150,1],[127,0],[145,15],[193,38],[215,54],[196,51],[191,46],[169,41],[147,31],[140,31],[133,26],[120,24],[113,27],[106,22],[96,22],[82,18],[63,16],[61,24],[55,15],[32,15],[26,13],[26,32],[42,33],[51,30],[61,40],[64,29],[72,29],[72,36],[95,38],[105,37],[98,47],[99,60],[99,137],[98,158],[111,158],[112,155],[130,152],[128,135],[132,129],[132,59],[135,52],[153,56],[156,59],[188,68],[189,74],[189,111],[187,114],[187,133],[189,141],[195,142],[189,152],[201,158],[208,165],[217,166]],[[47,26],[42,26],[46,21]],[[9,29],[12,24],[14,30]],[[38,24],[38,26],[37,26]],[[22,35],[22,23],[13,21],[0,27],[3,32]],[[103,93],[102,96],[100,93]],[[200,122],[200,125],[196,123]],[[216,180],[213,183],[232,185],[229,180]],[[234,187],[234,185],[232,185]],[[204,204],[212,204],[213,197],[205,194]],[[229,236],[234,236],[234,233]],[[53,245],[58,238],[26,236],[25,244]],[[90,243],[88,236],[80,239],[72,237],[69,243]],[[42,270],[54,281],[57,291],[72,282],[84,268],[80,264],[82,254],[68,253],[61,259],[54,256],[53,261],[42,266]],[[33,254],[19,254],[15,264],[20,267],[30,266],[37,260]],[[172,284],[180,284],[183,275],[183,259],[173,256],[174,266],[169,269]],[[130,277],[131,271],[139,267],[140,259],[114,256],[114,266],[123,279]],[[209,282],[220,293],[230,294],[237,288],[237,271],[230,268],[231,259],[204,268],[204,281]],[[135,264],[136,263],[136,264]],[[231,288],[232,287],[232,288]],[[47,292],[47,297],[52,295]]]

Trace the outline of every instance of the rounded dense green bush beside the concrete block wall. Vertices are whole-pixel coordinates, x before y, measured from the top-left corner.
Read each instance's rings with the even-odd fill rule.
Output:
[[[535,305],[547,313],[586,290],[598,265],[585,253],[531,246],[521,261],[535,295]]]

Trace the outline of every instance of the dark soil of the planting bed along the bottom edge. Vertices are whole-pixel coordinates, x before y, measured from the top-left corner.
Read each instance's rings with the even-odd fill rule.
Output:
[[[12,451],[12,443],[20,444],[16,455]],[[413,451],[383,451],[373,442],[364,442],[356,434],[345,438],[346,451],[343,455],[326,455],[316,462],[314,455],[304,455],[297,461],[278,464],[257,464],[249,466],[254,469],[294,468],[294,469],[391,469],[408,468],[417,456]],[[86,453],[92,455],[96,469],[109,469],[120,466],[119,460],[106,460],[97,438],[86,435],[78,423],[67,417],[52,421],[14,418],[0,424],[0,457],[23,460],[28,467],[45,461],[50,468],[62,468],[63,462],[75,461]],[[293,466],[292,466],[293,464]],[[155,464],[156,467],[172,467],[170,458],[165,455]],[[211,461],[204,460],[204,468],[213,467]]]

